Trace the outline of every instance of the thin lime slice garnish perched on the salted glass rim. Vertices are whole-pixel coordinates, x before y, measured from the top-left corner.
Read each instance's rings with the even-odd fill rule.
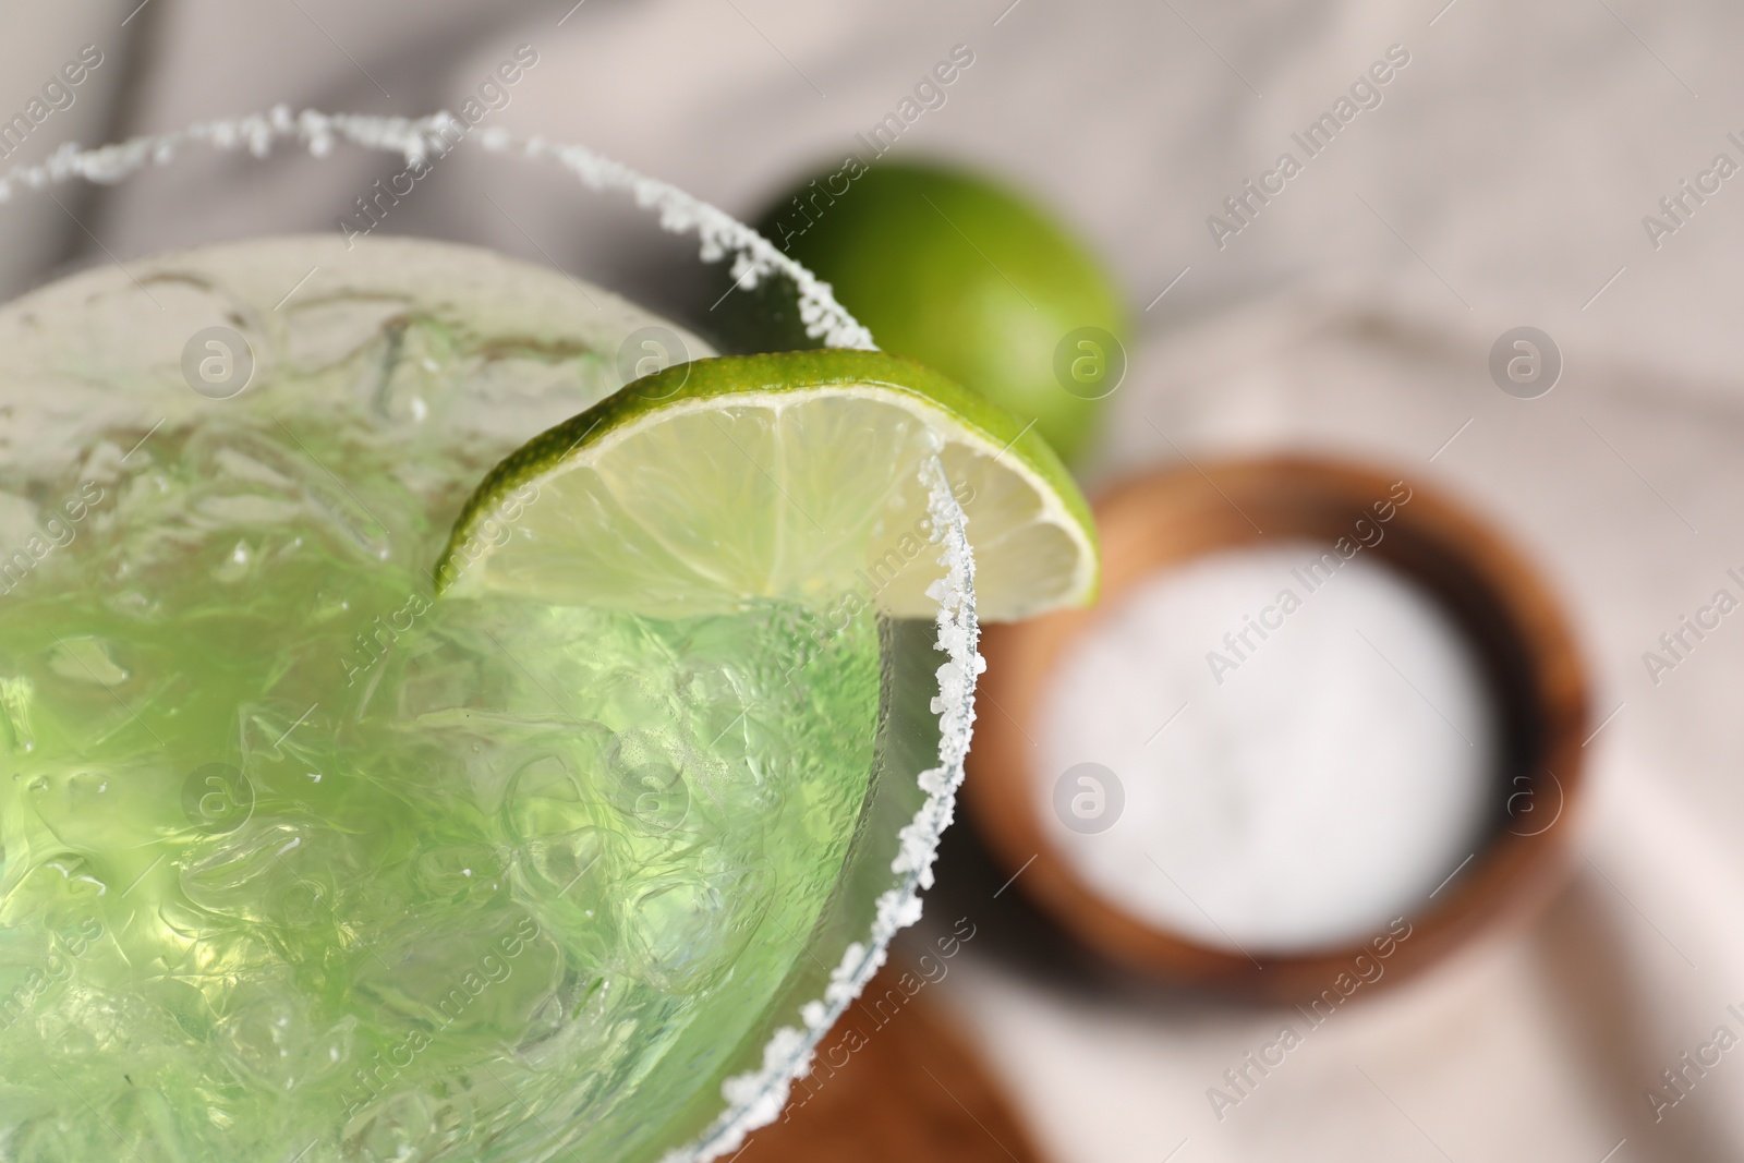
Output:
[[[935,455],[968,516],[982,619],[1095,596],[1090,509],[1046,443],[942,375],[867,350],[699,359],[626,385],[490,471],[436,588],[656,617],[858,591],[930,617]]]

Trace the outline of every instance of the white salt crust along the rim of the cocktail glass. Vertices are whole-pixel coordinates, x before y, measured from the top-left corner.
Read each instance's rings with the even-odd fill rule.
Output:
[[[453,136],[450,136],[453,134]],[[752,227],[678,187],[642,174],[582,145],[558,143],[544,136],[518,136],[502,127],[471,133],[471,126],[446,110],[427,117],[377,117],[366,113],[293,113],[279,105],[265,113],[195,122],[185,129],[143,134],[127,141],[84,148],[61,145],[45,160],[14,166],[0,174],[0,207],[26,190],[91,181],[117,185],[150,166],[167,166],[188,146],[246,150],[265,159],[274,145],[295,143],[310,157],[331,155],[337,143],[366,150],[399,153],[408,166],[443,155],[476,139],[490,153],[518,153],[530,160],[556,164],[570,171],[595,194],[630,194],[642,211],[657,214],[659,227],[677,235],[696,235],[705,263],[731,256],[729,274],[736,288],[752,288],[760,279],[787,275],[799,293],[799,317],[806,333],[825,347],[875,350],[872,333],[860,324],[804,265],[783,255]],[[410,235],[417,237],[417,235]],[[963,785],[963,760],[968,753],[975,720],[975,678],[985,670],[977,650],[975,558],[964,530],[966,516],[950,490],[944,466],[935,457],[924,469],[928,513],[933,521],[938,565],[944,577],[928,589],[937,602],[937,650],[947,661],[935,671],[938,694],[930,711],[938,718],[938,764],[921,771],[917,783],[926,793],[914,818],[898,835],[891,861],[895,886],[877,898],[872,931],[863,942],[851,942],[841,964],[830,971],[823,997],[800,1006],[802,1027],[783,1025],[762,1048],[762,1065],[727,1078],[720,1086],[722,1112],[696,1139],[668,1151],[661,1163],[699,1163],[736,1151],[750,1132],[773,1123],[787,1105],[792,1083],[806,1074],[816,1044],[835,1020],[860,996],[872,975],[882,968],[895,935],[921,919],[921,891],[933,884],[938,840],[956,811],[956,793]]]

